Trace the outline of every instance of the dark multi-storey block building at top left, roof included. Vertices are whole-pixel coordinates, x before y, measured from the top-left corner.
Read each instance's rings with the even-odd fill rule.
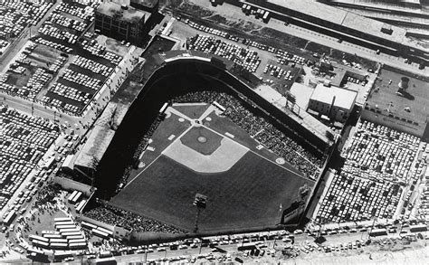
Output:
[[[151,14],[128,5],[102,3],[95,13],[95,30],[136,45],[143,42],[150,30]]]

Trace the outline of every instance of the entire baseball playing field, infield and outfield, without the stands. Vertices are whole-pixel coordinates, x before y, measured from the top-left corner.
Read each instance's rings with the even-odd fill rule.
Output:
[[[233,129],[231,120],[219,117],[212,106],[191,111],[173,106],[167,111],[149,145],[157,156],[110,203],[192,232],[195,194],[204,194],[208,199],[199,232],[262,229],[280,222],[300,186],[314,185],[287,163],[279,165],[274,156],[257,152],[258,143]],[[171,124],[178,123],[190,126],[177,131]],[[150,152],[141,159],[153,157]]]

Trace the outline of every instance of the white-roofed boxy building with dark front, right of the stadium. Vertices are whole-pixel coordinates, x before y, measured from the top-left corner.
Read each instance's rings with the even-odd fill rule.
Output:
[[[346,122],[357,97],[357,92],[318,84],[313,91],[307,111],[319,118]]]

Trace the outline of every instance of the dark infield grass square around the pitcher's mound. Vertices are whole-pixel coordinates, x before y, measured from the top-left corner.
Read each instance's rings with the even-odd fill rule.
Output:
[[[198,137],[205,137],[205,142],[198,141]],[[195,151],[205,156],[211,155],[221,146],[222,137],[215,132],[204,127],[191,128],[186,134],[180,138],[182,144],[186,147],[191,147]]]

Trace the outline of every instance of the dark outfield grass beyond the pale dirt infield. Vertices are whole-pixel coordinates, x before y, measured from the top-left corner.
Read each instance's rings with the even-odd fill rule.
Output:
[[[198,174],[160,156],[111,203],[160,222],[193,231],[195,194],[208,197],[200,232],[260,228],[280,222],[301,185],[312,182],[248,152],[229,171]]]

